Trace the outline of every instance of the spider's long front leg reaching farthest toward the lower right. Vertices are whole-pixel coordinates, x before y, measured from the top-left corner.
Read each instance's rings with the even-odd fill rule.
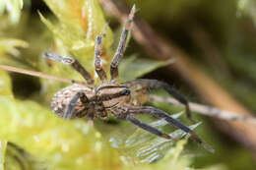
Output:
[[[207,143],[203,142],[198,135],[192,131],[190,128],[188,128],[187,126],[183,125],[181,122],[179,122],[176,119],[171,118],[167,113],[154,108],[154,107],[150,107],[150,106],[144,106],[144,107],[130,107],[128,108],[128,113],[131,114],[150,114],[153,115],[157,118],[163,118],[166,122],[168,122],[169,124],[173,125],[176,128],[181,129],[182,131],[190,134],[190,137],[195,140],[196,142],[198,142],[200,145],[202,145],[204,148],[206,148],[207,150],[214,152],[215,150],[208,145]]]

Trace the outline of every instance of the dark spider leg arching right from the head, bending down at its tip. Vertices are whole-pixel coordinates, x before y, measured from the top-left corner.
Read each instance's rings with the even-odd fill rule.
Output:
[[[129,86],[131,88],[133,88],[133,86],[139,85],[140,89],[145,89],[145,88],[147,88],[147,89],[150,89],[150,88],[163,88],[171,96],[173,96],[176,100],[178,100],[180,103],[185,105],[187,118],[191,122],[195,122],[192,119],[191,111],[190,111],[187,99],[182,94],[180,94],[176,89],[171,87],[170,85],[168,85],[168,84],[166,84],[164,82],[160,82],[158,80],[147,80],[147,79],[134,80],[134,81],[131,81],[131,82],[124,83],[124,85],[127,85],[127,86]]]

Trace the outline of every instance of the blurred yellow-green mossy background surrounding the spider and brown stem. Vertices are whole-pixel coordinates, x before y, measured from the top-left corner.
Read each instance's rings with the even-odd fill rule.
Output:
[[[136,4],[138,18],[148,22],[167,43],[174,43],[186,53],[189,62],[224,88],[239,105],[251,113],[256,111],[255,1],[126,0],[125,3],[129,8]],[[0,0],[0,14],[0,64],[80,81],[83,79],[72,68],[45,61],[41,57],[43,52],[51,49],[61,55],[72,55],[95,75],[95,38],[108,23],[101,56],[108,72],[122,28],[116,18],[105,14],[97,0]],[[202,97],[204,91],[199,94],[195,85],[170,67],[165,60],[149,55],[131,37],[120,66],[120,81],[158,79],[175,86],[189,101],[214,103],[212,98]],[[211,154],[186,138],[170,144],[112,117],[105,122],[96,120],[95,128],[89,127],[84,119],[61,120],[51,112],[49,103],[52,95],[67,84],[3,70],[0,75],[0,170],[256,169],[255,147],[241,142],[243,134],[226,131],[217,119],[193,113],[201,122],[195,131],[216,149]],[[152,92],[166,95],[162,91]],[[171,114],[183,111],[181,107],[160,102],[149,104]],[[183,115],[180,120],[190,124]],[[253,128],[252,125],[251,132]],[[174,131],[172,135],[178,138],[184,135],[168,127],[163,130]],[[127,145],[129,141],[134,141],[134,145]]]

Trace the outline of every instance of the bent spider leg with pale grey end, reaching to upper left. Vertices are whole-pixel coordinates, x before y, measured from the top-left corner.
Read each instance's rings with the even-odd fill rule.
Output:
[[[53,61],[60,62],[62,64],[71,65],[77,72],[79,72],[84,77],[88,85],[95,84],[95,81],[93,80],[89,72],[76,59],[69,58],[69,57],[62,57],[50,51],[45,52],[44,57]]]

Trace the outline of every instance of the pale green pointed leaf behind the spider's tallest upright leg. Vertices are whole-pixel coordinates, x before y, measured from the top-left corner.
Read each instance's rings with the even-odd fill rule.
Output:
[[[172,60],[156,61],[138,58],[136,55],[122,59],[119,66],[120,81],[131,81],[140,78],[160,67],[171,64]]]

